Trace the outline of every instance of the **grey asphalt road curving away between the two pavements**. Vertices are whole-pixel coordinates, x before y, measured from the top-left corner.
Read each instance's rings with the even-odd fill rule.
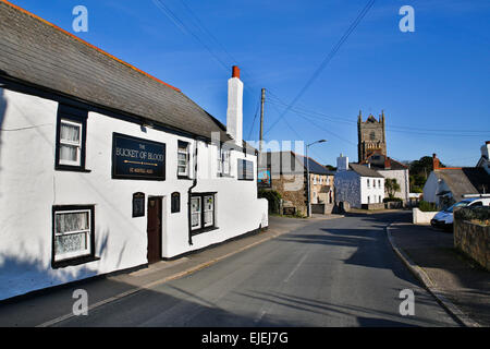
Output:
[[[456,326],[392,251],[401,217],[317,221],[57,326]]]

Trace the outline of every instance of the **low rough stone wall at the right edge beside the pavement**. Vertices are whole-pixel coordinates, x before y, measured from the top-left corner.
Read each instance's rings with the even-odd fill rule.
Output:
[[[490,226],[455,219],[454,246],[490,272]]]

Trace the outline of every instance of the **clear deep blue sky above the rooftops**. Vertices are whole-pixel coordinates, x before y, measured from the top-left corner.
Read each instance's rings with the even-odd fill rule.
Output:
[[[88,32],[75,35],[179,87],[223,123],[237,64],[244,139],[258,139],[265,87],[266,141],[327,139],[310,148],[322,164],[340,153],[357,160],[359,110],[384,110],[388,154],[399,160],[437,153],[445,165],[475,166],[490,141],[488,0],[376,1],[277,123],[367,0],[158,0],[167,13],[157,0],[11,1],[72,33],[72,10],[85,5]],[[399,29],[405,4],[414,33]]]

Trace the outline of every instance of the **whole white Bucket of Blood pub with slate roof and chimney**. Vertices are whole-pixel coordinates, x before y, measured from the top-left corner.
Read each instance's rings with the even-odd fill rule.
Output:
[[[179,88],[0,2],[0,299],[267,227],[243,83],[226,127]]]

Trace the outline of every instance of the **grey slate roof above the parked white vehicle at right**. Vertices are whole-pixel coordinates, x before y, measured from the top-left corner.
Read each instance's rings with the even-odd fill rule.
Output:
[[[434,174],[438,179],[442,179],[446,183],[453,193],[453,197],[456,200],[463,198],[465,194],[482,194],[483,191],[485,193],[490,192],[490,174],[483,168],[442,168],[437,169]]]

